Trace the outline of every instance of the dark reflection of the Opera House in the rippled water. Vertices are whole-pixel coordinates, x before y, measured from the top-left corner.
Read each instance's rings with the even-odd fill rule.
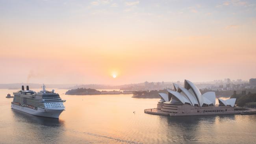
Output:
[[[214,133],[227,132],[230,129],[224,126],[225,122],[234,121],[235,115],[210,115],[210,116],[187,116],[187,117],[168,117],[161,116],[163,125],[169,127],[165,137],[172,142],[215,142]],[[223,125],[216,131],[215,124]],[[170,135],[172,133],[172,135]],[[223,135],[226,137],[225,135]],[[226,137],[226,139],[228,139]]]

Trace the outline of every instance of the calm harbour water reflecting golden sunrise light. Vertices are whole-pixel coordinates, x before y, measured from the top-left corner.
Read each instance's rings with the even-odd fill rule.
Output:
[[[39,89],[33,89],[39,91]],[[169,117],[145,114],[159,99],[132,95],[67,96],[59,119],[11,109],[0,89],[0,143],[255,143],[256,115]],[[135,111],[135,114],[133,113]]]

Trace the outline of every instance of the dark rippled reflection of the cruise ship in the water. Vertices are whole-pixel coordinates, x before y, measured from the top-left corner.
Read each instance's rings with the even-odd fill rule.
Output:
[[[11,110],[17,129],[13,131],[12,136],[18,137],[15,138],[15,143],[59,143],[65,133],[63,120],[34,116],[15,109]]]

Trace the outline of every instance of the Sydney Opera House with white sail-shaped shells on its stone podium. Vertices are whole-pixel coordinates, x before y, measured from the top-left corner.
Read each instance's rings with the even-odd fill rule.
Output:
[[[174,85],[174,91],[160,93],[160,101],[155,109],[145,109],[145,113],[185,116],[185,115],[208,115],[208,114],[235,114],[239,113],[238,107],[234,107],[236,99],[219,100],[215,105],[215,92],[201,94],[197,86],[191,81],[185,80],[184,87]]]

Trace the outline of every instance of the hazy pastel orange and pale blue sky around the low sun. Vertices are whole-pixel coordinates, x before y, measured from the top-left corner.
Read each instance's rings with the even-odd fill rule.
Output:
[[[0,0],[0,66],[0,83],[256,78],[256,1]]]

